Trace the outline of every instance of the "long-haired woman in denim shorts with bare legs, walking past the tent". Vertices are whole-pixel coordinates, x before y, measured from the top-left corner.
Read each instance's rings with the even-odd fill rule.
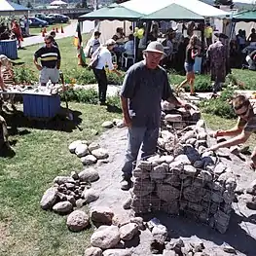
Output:
[[[194,89],[195,73],[194,64],[197,55],[200,55],[200,48],[198,46],[199,38],[193,35],[190,38],[189,45],[186,48],[186,58],[184,63],[184,68],[186,71],[186,79],[178,86],[177,91],[183,88],[185,85],[190,85],[190,94],[192,96],[197,95]]]

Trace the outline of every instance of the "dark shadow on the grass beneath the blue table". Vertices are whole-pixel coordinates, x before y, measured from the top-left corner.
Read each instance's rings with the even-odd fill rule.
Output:
[[[33,119],[27,118],[23,115],[22,111],[14,112],[4,112],[2,116],[5,118],[9,132],[12,135],[25,135],[30,133],[27,129],[18,129],[18,128],[37,128],[37,129],[50,129],[50,130],[60,130],[65,132],[71,132],[75,128],[82,128],[79,125],[82,122],[80,116],[82,113],[80,111],[72,111],[73,120],[67,118],[67,112],[65,108],[61,108],[60,113],[51,120],[46,119]]]

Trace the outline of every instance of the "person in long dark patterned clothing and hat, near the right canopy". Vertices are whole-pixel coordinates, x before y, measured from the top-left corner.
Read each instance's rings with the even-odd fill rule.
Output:
[[[221,90],[222,84],[225,82],[227,75],[227,58],[228,50],[225,46],[225,40],[228,38],[223,33],[216,33],[218,40],[209,46],[207,50],[207,58],[210,65],[210,76],[212,85],[212,97],[217,96],[217,92]]]

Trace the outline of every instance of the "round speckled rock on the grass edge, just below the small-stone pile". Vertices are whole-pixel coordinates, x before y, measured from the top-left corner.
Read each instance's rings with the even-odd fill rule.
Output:
[[[66,225],[71,231],[82,231],[89,225],[89,216],[82,210],[75,210],[71,212],[66,221]]]

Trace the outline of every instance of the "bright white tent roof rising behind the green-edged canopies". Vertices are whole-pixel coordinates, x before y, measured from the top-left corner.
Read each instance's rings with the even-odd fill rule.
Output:
[[[121,5],[140,14],[150,15],[173,3],[190,10],[201,17],[226,17],[230,15],[230,13],[202,3],[199,0],[130,0]]]

